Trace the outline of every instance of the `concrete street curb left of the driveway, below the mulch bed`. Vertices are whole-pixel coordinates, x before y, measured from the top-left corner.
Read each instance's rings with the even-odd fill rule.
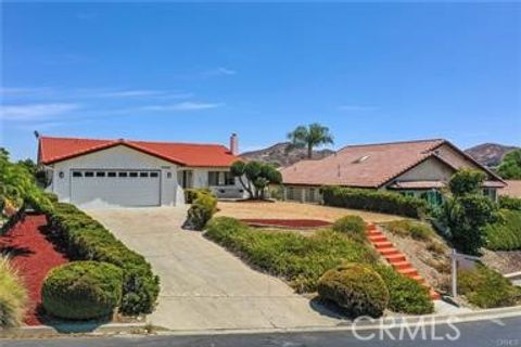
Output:
[[[3,338],[40,338],[74,335],[116,335],[144,333],[150,324],[147,323],[109,323],[94,327],[89,323],[58,324],[55,326],[35,325],[0,330],[0,339]]]

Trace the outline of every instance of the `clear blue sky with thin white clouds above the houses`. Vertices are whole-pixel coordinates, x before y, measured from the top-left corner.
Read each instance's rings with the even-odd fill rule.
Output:
[[[521,144],[521,5],[3,3],[0,145],[227,143],[329,126],[335,146]]]

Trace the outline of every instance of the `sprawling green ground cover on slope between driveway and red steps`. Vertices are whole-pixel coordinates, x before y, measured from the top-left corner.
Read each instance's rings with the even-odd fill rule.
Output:
[[[433,305],[427,288],[391,267],[378,265],[378,255],[363,237],[353,233],[357,227],[352,222],[352,218],[340,219],[335,223],[339,231],[330,227],[303,236],[295,232],[252,229],[233,218],[217,217],[208,223],[205,236],[238,254],[252,267],[284,278],[300,293],[315,292],[325,272],[346,262],[369,266],[389,288],[391,310],[431,313]],[[354,226],[359,228],[359,221]]]

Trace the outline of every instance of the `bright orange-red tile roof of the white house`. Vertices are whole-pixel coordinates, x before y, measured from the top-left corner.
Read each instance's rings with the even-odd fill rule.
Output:
[[[239,157],[220,144],[147,142],[131,140],[92,140],[40,137],[39,162],[46,165],[116,145],[160,157],[182,166],[228,167]]]

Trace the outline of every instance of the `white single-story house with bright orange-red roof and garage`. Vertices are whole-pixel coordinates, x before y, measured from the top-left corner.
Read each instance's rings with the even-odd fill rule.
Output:
[[[218,197],[242,197],[230,175],[238,139],[220,144],[40,137],[38,163],[48,191],[82,207],[176,206],[183,189],[209,188]]]

